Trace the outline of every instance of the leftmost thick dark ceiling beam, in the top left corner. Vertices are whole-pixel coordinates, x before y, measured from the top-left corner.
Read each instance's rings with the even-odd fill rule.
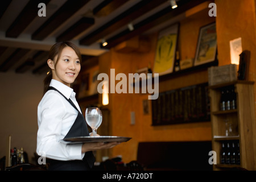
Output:
[[[49,1],[50,0],[30,0],[8,28],[5,35],[9,38],[17,38],[28,24],[38,16],[38,4],[42,2],[47,5]]]

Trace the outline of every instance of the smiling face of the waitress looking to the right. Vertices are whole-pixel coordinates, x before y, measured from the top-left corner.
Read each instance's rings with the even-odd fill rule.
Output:
[[[52,78],[70,86],[76,80],[81,69],[79,57],[71,47],[67,46],[63,48],[59,60],[56,59],[57,55],[53,60]],[[56,61],[57,65],[54,67]]]

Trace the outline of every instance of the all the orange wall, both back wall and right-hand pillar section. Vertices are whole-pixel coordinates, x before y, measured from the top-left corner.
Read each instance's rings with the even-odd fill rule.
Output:
[[[181,59],[195,57],[197,38],[200,27],[216,21],[219,65],[230,64],[229,40],[242,37],[243,49],[253,51],[255,46],[255,0],[216,0],[217,17],[209,17],[204,9],[180,21],[178,49]],[[238,11],[238,9],[240,11]],[[170,25],[166,25],[170,26]],[[109,74],[110,68],[118,73],[135,73],[136,69],[147,67],[151,63],[154,68],[155,48],[158,34],[148,36],[150,51],[146,53],[121,53],[111,49],[100,56],[100,72]],[[255,60],[255,52],[251,52],[251,60]],[[255,61],[251,61],[249,79],[255,81]],[[197,71],[180,75],[159,83],[159,92],[182,88],[188,85],[208,81],[207,71]],[[115,81],[115,85],[119,81]],[[254,85],[255,88],[255,85]],[[254,89],[254,94],[255,94]],[[211,140],[210,122],[186,123],[180,125],[151,126],[150,113],[143,114],[142,101],[147,100],[147,94],[109,94],[110,103],[110,133],[116,136],[131,137],[129,142],[121,143],[111,151],[112,156],[122,155],[124,162],[137,159],[137,147],[144,141],[181,141],[181,140]],[[255,102],[256,103],[256,102]],[[135,112],[135,125],[130,124],[130,113]],[[111,157],[111,156],[110,156]]]

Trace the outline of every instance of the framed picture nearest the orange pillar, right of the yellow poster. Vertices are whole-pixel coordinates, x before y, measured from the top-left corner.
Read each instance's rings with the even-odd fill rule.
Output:
[[[200,28],[194,66],[214,61],[216,59],[216,52],[216,23],[211,23]]]

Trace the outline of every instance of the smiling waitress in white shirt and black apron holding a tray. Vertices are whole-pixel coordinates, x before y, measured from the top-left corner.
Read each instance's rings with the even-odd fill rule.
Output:
[[[36,152],[46,155],[49,170],[90,170],[92,151],[112,148],[117,142],[64,144],[69,137],[88,136],[88,129],[71,84],[81,69],[81,53],[71,42],[60,42],[49,51],[51,71],[44,80],[44,96],[38,105]]]

